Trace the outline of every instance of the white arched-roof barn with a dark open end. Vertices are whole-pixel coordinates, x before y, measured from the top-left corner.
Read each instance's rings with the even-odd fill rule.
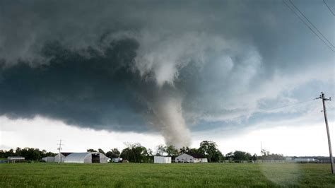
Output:
[[[64,163],[107,163],[106,155],[99,152],[71,153],[64,158]]]

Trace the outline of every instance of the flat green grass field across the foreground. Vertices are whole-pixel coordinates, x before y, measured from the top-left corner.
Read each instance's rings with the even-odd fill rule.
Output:
[[[335,187],[329,164],[0,164],[0,187]]]

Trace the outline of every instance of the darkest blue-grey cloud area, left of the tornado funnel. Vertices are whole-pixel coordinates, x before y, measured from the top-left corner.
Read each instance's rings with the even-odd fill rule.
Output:
[[[155,85],[142,82],[131,69],[138,45],[120,40],[104,54],[86,49],[83,57],[59,42],[49,42],[42,52],[48,64],[32,67],[20,61],[1,69],[0,114],[40,114],[95,129],[145,131],[140,114],[147,107],[136,92]]]

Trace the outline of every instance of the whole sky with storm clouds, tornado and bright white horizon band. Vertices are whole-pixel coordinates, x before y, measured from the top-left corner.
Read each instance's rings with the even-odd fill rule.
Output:
[[[0,149],[328,155],[334,18],[321,0],[0,0]]]

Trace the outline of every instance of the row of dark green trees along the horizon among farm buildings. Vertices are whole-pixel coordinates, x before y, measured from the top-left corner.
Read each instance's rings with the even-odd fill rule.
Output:
[[[122,158],[123,160],[129,160],[132,163],[152,163],[153,155],[168,155],[174,160],[178,155],[182,153],[197,153],[204,155],[208,159],[208,162],[218,163],[223,160],[284,160],[285,158],[281,154],[270,153],[269,151],[262,151],[262,155],[256,154],[251,155],[245,151],[234,151],[223,155],[218,149],[216,142],[214,141],[201,141],[199,148],[182,147],[180,149],[175,146],[159,145],[152,151],[150,148],[146,148],[141,143],[125,143],[127,146],[121,152],[118,148],[113,148],[110,151],[103,151],[99,148],[95,151],[89,148],[88,152],[100,152],[105,154],[108,158]],[[38,148],[16,148],[9,151],[0,150],[0,158],[7,158],[8,156],[22,156],[25,160],[41,160],[47,156],[54,156],[56,153],[47,152],[45,150],[40,151]]]

